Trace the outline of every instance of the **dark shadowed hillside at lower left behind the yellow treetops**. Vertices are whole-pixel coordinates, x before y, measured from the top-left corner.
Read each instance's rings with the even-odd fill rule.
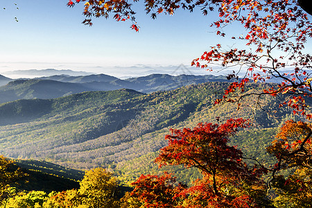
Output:
[[[81,180],[84,175],[83,171],[64,168],[49,162],[15,160],[13,164],[10,164],[9,162],[3,162],[4,159],[3,157],[1,158],[2,188],[3,183],[10,183],[11,187],[17,187],[17,189],[23,191],[35,190],[46,191],[47,193],[51,191],[66,191],[79,188],[78,180]],[[7,164],[10,165],[6,166]],[[17,169],[19,170],[17,171]],[[14,172],[13,176],[12,173]],[[15,177],[15,179],[10,180],[8,175]]]

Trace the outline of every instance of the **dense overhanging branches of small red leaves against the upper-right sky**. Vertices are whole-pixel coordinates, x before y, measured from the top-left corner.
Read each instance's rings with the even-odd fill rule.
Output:
[[[288,101],[280,106],[288,105],[294,114],[311,119],[311,114],[305,112],[309,107],[305,99],[312,96],[311,55],[303,53],[303,49],[312,37],[312,27],[297,1],[223,1],[219,16],[220,19],[211,24],[217,28],[217,35],[225,36],[221,32],[223,26],[239,21],[246,32],[232,39],[245,42],[246,47],[224,50],[218,44],[193,60],[192,64],[201,68],[209,68],[211,63],[236,67],[228,78],[237,78],[238,73],[243,72],[243,79],[229,85],[216,104],[222,101],[239,103],[241,97],[231,98],[236,89],[243,92],[246,83],[275,78],[279,84],[258,95],[288,94]]]

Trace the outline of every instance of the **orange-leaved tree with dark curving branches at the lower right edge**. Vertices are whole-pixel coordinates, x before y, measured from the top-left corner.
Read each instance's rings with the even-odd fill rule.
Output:
[[[278,193],[277,203],[288,207],[310,207],[312,202],[312,125],[302,121],[287,121],[277,139],[268,146],[277,163],[272,168],[272,184]],[[276,175],[281,169],[292,168],[284,177]],[[286,207],[286,206],[285,206]]]

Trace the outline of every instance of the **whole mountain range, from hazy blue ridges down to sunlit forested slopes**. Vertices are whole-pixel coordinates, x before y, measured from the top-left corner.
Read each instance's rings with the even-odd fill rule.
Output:
[[[54,70],[35,72],[40,76]],[[171,128],[243,117],[252,118],[252,127],[232,137],[232,144],[270,162],[266,146],[282,121],[297,117],[286,107],[274,113],[284,96],[262,96],[259,103],[264,111],[252,103],[252,97],[243,100],[244,111],[232,103],[214,105],[228,82],[226,76],[159,73],[127,79],[74,73],[17,80],[0,76],[0,154],[19,159],[24,168],[74,180],[83,173],[68,168],[98,166],[131,180],[160,171],[153,159],[166,146],[164,136]],[[274,85],[250,83],[245,93]],[[185,182],[200,175],[193,169],[173,168],[177,177],[189,175]]]

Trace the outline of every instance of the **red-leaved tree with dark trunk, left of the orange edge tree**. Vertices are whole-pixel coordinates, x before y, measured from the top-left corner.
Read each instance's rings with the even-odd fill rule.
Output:
[[[182,207],[257,207],[268,205],[261,175],[266,169],[247,166],[243,153],[229,146],[229,137],[248,127],[245,119],[229,119],[222,124],[199,123],[192,130],[171,130],[168,146],[160,150],[159,166],[184,165],[202,173],[193,187],[175,197]]]

